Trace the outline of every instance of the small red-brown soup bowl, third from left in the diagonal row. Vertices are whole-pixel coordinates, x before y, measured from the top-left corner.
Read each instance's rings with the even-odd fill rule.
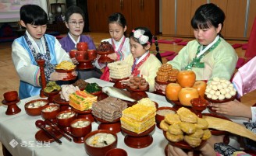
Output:
[[[62,118],[61,116],[67,115],[68,113],[73,113],[73,116],[66,116],[66,118]],[[56,116],[57,123],[61,127],[70,127],[70,123],[73,120],[76,120],[76,113],[73,110],[65,110],[57,114]]]

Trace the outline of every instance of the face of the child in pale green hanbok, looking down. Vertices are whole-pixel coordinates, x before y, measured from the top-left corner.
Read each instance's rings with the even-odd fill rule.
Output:
[[[215,40],[215,37],[218,35],[222,28],[222,25],[219,24],[218,28],[211,26],[206,29],[194,29],[194,36],[196,37],[197,42],[201,43],[204,46],[212,43]]]

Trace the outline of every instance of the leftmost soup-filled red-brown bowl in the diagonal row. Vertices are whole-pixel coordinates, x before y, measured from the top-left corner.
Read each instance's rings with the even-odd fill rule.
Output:
[[[44,106],[33,106],[39,102],[44,102]],[[49,105],[48,99],[34,99],[25,104],[25,111],[29,116],[40,116],[41,110]]]

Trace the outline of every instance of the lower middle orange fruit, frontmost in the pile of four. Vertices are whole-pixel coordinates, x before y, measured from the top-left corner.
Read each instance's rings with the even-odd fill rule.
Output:
[[[179,100],[183,106],[191,106],[191,99],[195,99],[199,97],[196,88],[181,88],[179,92]]]

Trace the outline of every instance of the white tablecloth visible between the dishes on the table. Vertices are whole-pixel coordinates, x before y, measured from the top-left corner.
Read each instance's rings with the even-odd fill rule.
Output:
[[[111,82],[101,81],[97,78],[90,78],[85,80],[89,83],[96,82],[98,85],[112,86]],[[158,106],[172,106],[171,103],[167,102],[165,97],[162,95],[155,95],[147,92],[148,97],[158,102]],[[74,142],[69,142],[66,138],[62,137],[62,144],[53,142],[51,144],[37,144],[35,140],[35,133],[39,130],[35,126],[36,120],[42,120],[41,116],[28,116],[24,109],[24,104],[32,99],[40,99],[39,96],[34,96],[28,99],[21,100],[17,105],[20,107],[21,112],[7,116],[5,111],[7,106],[0,106],[0,141],[12,156],[80,156],[87,155],[84,149],[84,144],[76,144]],[[208,112],[206,109],[205,113]],[[92,124],[92,130],[97,130],[98,124]],[[127,151],[130,156],[142,156],[142,155],[165,155],[164,148],[168,143],[162,134],[162,130],[155,127],[155,133],[152,135],[153,143],[141,149],[135,149],[126,146],[124,143],[124,136],[122,133],[117,133],[118,135],[118,145],[117,147],[123,148]],[[16,147],[12,147],[9,143],[16,141]],[[13,145],[13,144],[12,144]]]

